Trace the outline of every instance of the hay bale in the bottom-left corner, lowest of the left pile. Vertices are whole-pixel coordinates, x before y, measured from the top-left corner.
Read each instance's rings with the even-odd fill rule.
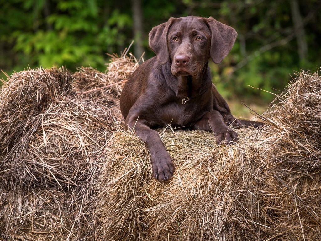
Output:
[[[4,191],[0,233],[6,240],[96,240],[96,208],[86,200],[89,193],[83,187]]]

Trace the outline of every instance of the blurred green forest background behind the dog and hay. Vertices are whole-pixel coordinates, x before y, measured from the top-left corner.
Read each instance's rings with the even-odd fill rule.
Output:
[[[150,58],[152,27],[187,15],[213,16],[238,32],[227,58],[220,65],[211,62],[213,82],[229,104],[239,99],[265,108],[274,99],[269,92],[280,93],[293,73],[321,67],[319,0],[0,2],[0,69],[9,75],[54,65],[105,71],[106,53],[120,54],[132,40],[134,56],[145,52],[144,59]],[[238,110],[238,104],[231,109]]]

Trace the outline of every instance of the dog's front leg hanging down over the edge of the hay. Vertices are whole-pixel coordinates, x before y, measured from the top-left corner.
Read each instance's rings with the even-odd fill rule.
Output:
[[[128,121],[126,120],[127,128],[134,128],[136,135],[150,151],[154,178],[160,182],[169,180],[173,176],[175,167],[157,131],[151,129],[142,119],[128,119]]]

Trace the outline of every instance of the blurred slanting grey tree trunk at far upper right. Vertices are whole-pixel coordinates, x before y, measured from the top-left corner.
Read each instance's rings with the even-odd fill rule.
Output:
[[[290,0],[290,4],[294,31],[298,43],[299,58],[300,61],[303,61],[307,58],[308,55],[308,45],[305,38],[305,31],[299,10],[299,3],[298,0]]]

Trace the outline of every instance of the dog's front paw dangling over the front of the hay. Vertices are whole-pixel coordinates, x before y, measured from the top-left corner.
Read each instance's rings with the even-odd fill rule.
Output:
[[[165,155],[157,155],[152,157],[153,177],[160,182],[168,181],[172,178],[175,171],[174,164],[166,152]]]

